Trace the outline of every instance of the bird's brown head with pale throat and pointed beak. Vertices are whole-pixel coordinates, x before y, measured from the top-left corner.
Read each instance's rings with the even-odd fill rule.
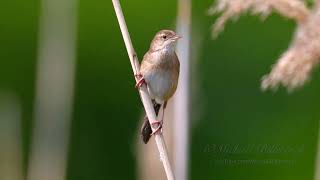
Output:
[[[161,30],[159,31],[152,40],[150,49],[152,51],[165,50],[173,52],[175,44],[181,36],[177,35],[171,30]]]

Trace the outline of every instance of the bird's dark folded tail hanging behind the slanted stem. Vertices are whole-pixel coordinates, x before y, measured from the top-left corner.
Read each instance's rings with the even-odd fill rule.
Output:
[[[161,108],[161,104],[158,104],[153,100],[153,108],[156,113],[156,116],[158,116],[159,110]],[[143,119],[143,124],[141,127],[141,137],[142,137],[142,140],[145,144],[148,143],[149,139],[151,138],[151,134],[152,134],[152,128],[149,123],[148,116],[146,115]]]

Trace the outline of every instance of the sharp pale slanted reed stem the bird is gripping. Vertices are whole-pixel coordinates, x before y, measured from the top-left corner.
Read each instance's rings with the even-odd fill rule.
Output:
[[[120,30],[122,33],[122,37],[125,43],[125,46],[127,48],[127,52],[128,52],[128,56],[130,59],[130,63],[132,66],[132,70],[134,75],[139,74],[139,69],[140,69],[140,64],[138,61],[138,57],[136,55],[136,52],[133,48],[132,42],[131,42],[131,38],[128,32],[128,28],[123,16],[123,12],[122,12],[122,8],[120,5],[119,0],[112,0],[113,6],[114,6],[114,10],[116,12],[116,16],[119,22],[119,26],[120,26]],[[139,81],[139,79],[135,77],[136,82]],[[146,111],[146,114],[148,116],[149,122],[150,124],[153,124],[157,117],[156,114],[154,112],[153,109],[153,105],[149,96],[149,93],[147,91],[147,87],[144,84],[141,88],[139,88],[139,93],[140,93],[140,97],[141,97],[141,101],[143,103],[144,109]],[[157,129],[157,127],[152,127],[152,130],[155,131]],[[158,151],[160,154],[160,160],[163,163],[163,167],[165,169],[166,175],[167,175],[167,179],[168,180],[174,180],[174,174],[173,174],[173,170],[171,167],[171,164],[169,162],[169,158],[168,158],[168,152],[167,152],[167,147],[163,138],[163,134],[160,131],[159,133],[155,134],[155,140],[156,140],[156,144],[158,147]]]

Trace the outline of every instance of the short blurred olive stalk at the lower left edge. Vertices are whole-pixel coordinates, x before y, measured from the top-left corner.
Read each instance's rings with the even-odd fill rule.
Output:
[[[21,103],[11,93],[0,94],[0,179],[23,180]]]

